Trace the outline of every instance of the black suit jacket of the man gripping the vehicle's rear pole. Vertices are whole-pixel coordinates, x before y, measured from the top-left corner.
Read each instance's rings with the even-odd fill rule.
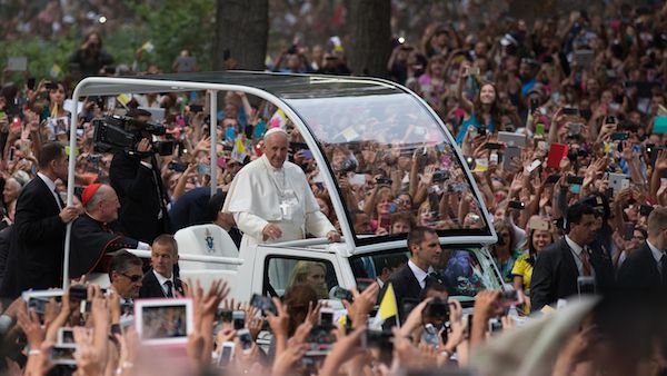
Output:
[[[14,225],[0,296],[16,298],[27,289],[62,285],[64,206],[40,176],[26,185],[17,201]]]

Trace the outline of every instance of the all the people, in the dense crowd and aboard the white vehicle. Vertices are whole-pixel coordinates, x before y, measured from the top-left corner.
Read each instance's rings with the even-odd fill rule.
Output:
[[[71,299],[71,290],[42,313],[21,298],[9,300],[0,317],[6,369],[48,374],[59,329],[73,327],[73,364],[83,375],[205,373],[211,365],[223,365],[216,372],[226,374],[396,375],[400,368],[445,373],[447,367],[485,369],[485,364],[498,366],[488,374],[501,374],[502,366],[516,370],[531,360],[507,349],[504,360],[475,356],[484,352],[488,332],[518,333],[507,301],[521,316],[556,316],[551,311],[563,300],[596,293],[604,300],[579,315],[560,338],[567,345],[542,359],[535,374],[664,374],[667,329],[657,318],[667,290],[665,34],[667,7],[619,4],[599,13],[540,18],[532,26],[522,20],[492,27],[434,22],[419,41],[397,39],[388,76],[419,95],[452,137],[425,130],[428,116],[411,108],[358,111],[362,98],[354,106],[302,108],[336,172],[345,219],[335,212],[331,192],[318,177],[322,167],[303,136],[280,109],[258,98],[226,92],[221,110],[210,113],[203,91],[88,97],[79,111],[74,152],[63,144],[77,106],[67,100],[76,82],[6,85],[0,96],[0,295],[16,299],[28,289],[61,285],[69,222],[71,277],[102,271],[111,283],[104,294],[89,285],[88,313]],[[345,65],[345,42],[295,46],[267,70],[355,73]],[[100,34],[86,36],[81,52],[72,56],[78,72],[117,75],[107,69],[112,60],[101,46]],[[120,73],[153,75],[160,67],[136,70],[128,62]],[[338,117],[341,110],[346,115]],[[96,127],[111,113],[125,116],[117,118],[121,128],[138,129],[131,152],[96,148]],[[207,136],[212,116],[220,125],[216,156]],[[173,141],[173,149],[153,152],[161,144],[149,141],[153,135],[146,126],[152,122],[166,127],[156,140]],[[347,123],[358,133],[351,136]],[[217,181],[207,171],[211,157]],[[70,206],[63,200],[68,158],[77,159],[78,195]],[[310,189],[290,189],[295,184]],[[218,188],[212,197],[211,185]],[[269,195],[273,190],[276,197]],[[226,301],[216,315],[228,287],[216,283],[205,291],[178,277],[178,247],[169,234],[181,228],[216,224],[237,246],[248,247],[308,235],[338,241],[346,219],[359,238],[407,238],[409,257],[360,263],[355,277],[378,284],[346,297],[342,327],[323,354],[315,355],[321,346],[313,349],[309,334],[325,324],[318,304],[329,297],[326,287],[319,288],[325,266],[298,263],[285,296],[272,301],[275,310],[262,313]],[[517,291],[516,301],[485,289],[484,281],[458,285],[451,270],[480,261],[437,241],[438,234],[475,235],[487,225],[498,235],[489,246],[491,257]],[[151,268],[123,248],[151,249]],[[474,269],[468,264],[462,268]],[[310,276],[310,270],[317,273]],[[402,325],[369,332],[368,317],[388,283],[395,286]],[[626,300],[628,291],[648,298]],[[454,295],[475,297],[471,315],[462,315],[458,300],[447,300]],[[136,298],[183,296],[193,304],[187,352],[181,358],[165,356],[156,366],[156,356],[146,353],[153,349],[140,345],[123,317],[132,315],[128,307]],[[416,300],[411,310],[404,298]],[[242,325],[226,315],[232,310],[245,311]],[[182,333],[182,315],[176,316]],[[489,323],[495,318],[500,324]],[[265,321],[272,333],[268,349],[258,339]],[[326,335],[319,337],[325,339],[315,343],[326,343]],[[235,343],[233,359],[222,364],[228,343]]]

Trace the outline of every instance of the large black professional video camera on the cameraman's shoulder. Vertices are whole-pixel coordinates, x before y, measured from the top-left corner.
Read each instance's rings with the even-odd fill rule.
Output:
[[[152,141],[151,151],[148,154],[137,151],[137,145],[145,138],[143,132],[171,137],[167,135],[167,128],[157,122],[141,121],[126,116],[108,116],[93,120],[92,126],[94,127],[92,140],[99,152],[125,151],[139,157],[147,157],[152,152],[170,156],[173,152],[173,140]]]

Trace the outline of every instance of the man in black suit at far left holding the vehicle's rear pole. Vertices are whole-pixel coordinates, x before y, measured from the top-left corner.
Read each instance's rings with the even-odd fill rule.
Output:
[[[56,180],[67,181],[68,158],[58,142],[44,145],[38,158],[37,178],[26,185],[17,201],[7,273],[0,296],[16,298],[23,290],[62,284],[66,225],[80,208],[66,206]]]

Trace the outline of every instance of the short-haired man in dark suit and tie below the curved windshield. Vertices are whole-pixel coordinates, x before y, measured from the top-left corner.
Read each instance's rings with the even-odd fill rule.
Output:
[[[431,283],[432,277],[428,275],[429,268],[440,261],[440,241],[438,234],[426,227],[416,227],[408,234],[408,249],[410,259],[408,264],[396,270],[387,283],[394,288],[396,303],[400,320],[406,319],[406,313],[402,311],[402,300],[405,298],[418,299],[421,290],[427,283]],[[380,297],[384,294],[380,294]]]

